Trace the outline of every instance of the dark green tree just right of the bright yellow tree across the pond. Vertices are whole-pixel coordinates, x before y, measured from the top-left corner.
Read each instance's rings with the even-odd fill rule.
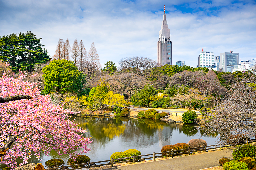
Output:
[[[157,89],[148,84],[147,86],[144,86],[144,89],[141,89],[138,92],[138,100],[147,104],[149,107],[149,103],[157,96],[157,92]]]

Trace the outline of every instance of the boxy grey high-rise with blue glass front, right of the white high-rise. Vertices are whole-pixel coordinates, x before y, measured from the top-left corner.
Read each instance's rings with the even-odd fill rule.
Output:
[[[220,53],[220,68],[223,72],[231,72],[234,66],[239,64],[239,53]]]

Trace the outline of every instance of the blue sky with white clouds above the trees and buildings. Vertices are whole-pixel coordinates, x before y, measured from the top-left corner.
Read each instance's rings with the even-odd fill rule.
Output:
[[[116,65],[124,57],[157,60],[163,20],[172,41],[172,63],[196,66],[202,49],[238,52],[240,60],[256,58],[255,1],[194,0],[0,0],[0,36],[31,31],[50,56],[59,38],[95,43],[100,63]]]

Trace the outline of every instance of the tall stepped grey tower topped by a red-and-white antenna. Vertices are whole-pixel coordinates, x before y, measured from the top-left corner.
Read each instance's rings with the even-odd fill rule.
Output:
[[[161,25],[161,30],[159,31],[159,40],[157,42],[157,64],[158,66],[163,66],[166,64],[172,65],[172,42],[170,41],[170,30],[168,28],[165,5],[164,5],[164,15]]]

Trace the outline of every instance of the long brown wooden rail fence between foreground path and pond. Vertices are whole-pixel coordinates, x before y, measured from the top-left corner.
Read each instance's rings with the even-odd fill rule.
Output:
[[[240,143],[241,144],[249,144],[249,143],[253,143],[256,142],[256,139],[250,139],[247,140],[244,143]],[[180,155],[180,154],[191,154],[191,151],[193,151],[194,149],[197,149],[195,151],[205,151],[207,152],[207,150],[210,149],[217,149],[219,148],[220,150],[222,150],[222,148],[225,147],[230,147],[230,146],[234,146],[234,148],[236,147],[236,145],[209,145],[209,146],[201,146],[201,147],[196,147],[196,148],[187,148],[187,149],[180,149],[180,150],[171,150],[171,151],[167,151],[167,152],[158,152],[158,153],[151,153],[151,154],[146,154],[146,155],[138,155],[138,156],[130,156],[130,157],[125,157],[125,158],[118,158],[118,159],[113,159],[111,158],[110,160],[105,160],[105,161],[97,161],[97,162],[90,162],[88,161],[87,163],[82,163],[82,164],[76,164],[76,165],[68,165],[68,166],[60,166],[60,167],[54,167],[54,168],[48,168],[46,170],[55,170],[55,169],[67,169],[68,167],[72,167],[72,166],[86,166],[86,167],[78,167],[78,168],[71,168],[69,170],[75,170],[75,169],[83,169],[83,168],[88,168],[90,169],[91,167],[98,167],[98,166],[104,166],[104,165],[111,165],[111,167],[113,167],[113,164],[118,164],[118,163],[123,163],[123,162],[133,162],[135,163],[135,161],[142,161],[142,160],[146,160],[146,159],[153,159],[155,160],[155,158],[160,158],[160,157],[164,157],[164,156],[171,156],[173,158],[174,155]],[[174,152],[178,152],[178,153],[174,153]],[[160,155],[161,154],[161,155]],[[164,155],[162,155],[164,154]],[[158,156],[156,156],[158,155]],[[144,157],[144,158],[141,158]],[[119,162],[114,162],[114,161],[118,161],[118,160],[123,160],[123,159],[130,159],[130,160],[126,160],[126,161],[119,161]],[[104,162],[104,163],[103,163]],[[107,163],[105,163],[107,162]],[[103,164],[99,164],[99,163],[103,163]],[[93,164],[98,164],[98,165],[93,165]]]

